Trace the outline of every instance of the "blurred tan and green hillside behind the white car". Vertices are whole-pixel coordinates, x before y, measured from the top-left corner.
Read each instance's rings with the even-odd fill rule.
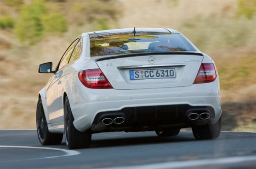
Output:
[[[52,61],[55,66],[78,34],[169,27],[214,59],[223,129],[256,131],[255,0],[34,2],[0,0],[0,128],[35,128],[38,91],[49,78],[37,73],[38,64]]]

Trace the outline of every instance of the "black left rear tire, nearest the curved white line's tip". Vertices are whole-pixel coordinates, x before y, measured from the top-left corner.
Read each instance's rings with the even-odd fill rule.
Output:
[[[90,147],[92,134],[90,130],[78,131],[73,125],[74,117],[71,112],[68,97],[64,101],[64,135],[66,146],[69,149],[80,149]]]

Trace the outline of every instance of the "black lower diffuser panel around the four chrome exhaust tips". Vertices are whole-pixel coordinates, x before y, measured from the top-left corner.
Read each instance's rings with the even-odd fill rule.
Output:
[[[205,113],[209,115],[207,119]],[[198,115],[196,119],[189,115]],[[193,117],[193,116],[191,116]],[[123,118],[121,124],[115,119]],[[159,105],[122,108],[118,111],[100,112],[93,121],[94,132],[139,132],[152,131],[164,128],[187,128],[193,125],[205,125],[215,118],[214,108],[211,106],[190,105]],[[102,125],[104,119],[112,119],[110,125]]]

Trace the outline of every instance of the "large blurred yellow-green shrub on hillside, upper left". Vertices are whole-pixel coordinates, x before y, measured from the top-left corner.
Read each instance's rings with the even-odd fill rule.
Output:
[[[62,33],[68,29],[66,18],[51,14],[47,5],[48,1],[45,0],[33,0],[30,4],[22,5],[14,29],[22,43],[35,44],[46,32]]]

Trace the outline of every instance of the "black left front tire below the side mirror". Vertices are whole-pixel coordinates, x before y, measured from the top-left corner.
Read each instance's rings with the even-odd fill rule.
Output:
[[[63,134],[51,133],[48,130],[42,99],[38,99],[36,108],[36,129],[38,140],[42,145],[57,145],[62,142]]]

